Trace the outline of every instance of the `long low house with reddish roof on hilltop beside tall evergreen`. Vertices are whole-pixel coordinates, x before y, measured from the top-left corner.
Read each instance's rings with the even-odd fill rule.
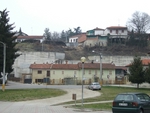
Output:
[[[18,36],[15,42],[23,42],[26,40],[36,40],[42,43],[45,38],[43,36]]]

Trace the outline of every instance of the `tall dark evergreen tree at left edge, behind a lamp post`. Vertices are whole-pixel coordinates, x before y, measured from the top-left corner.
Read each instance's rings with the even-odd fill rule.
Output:
[[[18,57],[16,54],[17,49],[15,49],[15,39],[13,32],[13,24],[9,24],[9,17],[7,9],[0,11],[0,42],[6,44],[6,73],[12,72],[12,65],[14,60]],[[3,45],[0,44],[0,72],[3,72]]]

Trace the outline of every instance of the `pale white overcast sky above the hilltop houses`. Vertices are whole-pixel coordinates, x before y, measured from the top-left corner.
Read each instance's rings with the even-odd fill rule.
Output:
[[[149,0],[0,0],[7,9],[14,31],[28,35],[80,27],[82,32],[96,27],[126,26],[135,11],[150,15]]]

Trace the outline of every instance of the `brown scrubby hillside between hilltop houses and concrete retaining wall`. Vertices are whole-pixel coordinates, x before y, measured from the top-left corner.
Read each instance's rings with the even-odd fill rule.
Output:
[[[48,44],[37,44],[37,43],[19,43],[16,45],[20,51],[44,51],[44,52],[62,52],[66,54],[67,60],[78,60],[82,56],[92,56],[96,55],[92,50],[101,52],[103,55],[120,55],[120,56],[135,56],[141,55],[146,56],[150,51],[150,48],[138,48],[138,47],[127,47],[123,45],[114,45],[111,47],[91,47],[91,48],[70,48],[66,46],[58,46],[58,45],[48,45]]]

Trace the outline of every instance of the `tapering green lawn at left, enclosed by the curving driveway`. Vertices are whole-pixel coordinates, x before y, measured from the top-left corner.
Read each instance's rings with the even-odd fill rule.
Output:
[[[66,94],[59,89],[8,89],[0,91],[0,101],[26,101],[51,98]]]

